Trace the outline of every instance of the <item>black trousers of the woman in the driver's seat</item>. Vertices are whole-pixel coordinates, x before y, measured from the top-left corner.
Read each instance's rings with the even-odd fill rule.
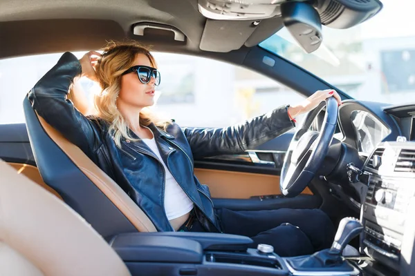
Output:
[[[318,209],[278,209],[234,211],[216,210],[223,233],[250,237],[258,244],[270,244],[282,257],[309,255],[329,248],[335,229],[329,217]],[[187,227],[185,225],[187,224]],[[205,232],[197,219],[183,224],[180,230]]]

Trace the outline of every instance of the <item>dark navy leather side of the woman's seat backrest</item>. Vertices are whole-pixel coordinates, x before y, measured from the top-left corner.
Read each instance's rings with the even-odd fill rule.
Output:
[[[45,184],[56,190],[102,237],[138,231],[122,210],[51,139],[27,98],[24,99],[24,114],[30,146]]]

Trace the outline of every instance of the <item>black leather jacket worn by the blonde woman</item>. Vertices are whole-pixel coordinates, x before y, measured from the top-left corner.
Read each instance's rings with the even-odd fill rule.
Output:
[[[81,148],[133,199],[158,231],[173,231],[164,210],[165,170],[156,155],[142,142],[122,139],[118,148],[102,119],[84,117],[66,99],[81,65],[70,52],[64,53],[28,97],[48,124]],[[174,122],[166,131],[150,124],[167,168],[192,199],[196,215],[210,232],[220,232],[208,186],[194,176],[194,159],[234,154],[252,149],[293,128],[287,106],[228,128],[181,128]]]

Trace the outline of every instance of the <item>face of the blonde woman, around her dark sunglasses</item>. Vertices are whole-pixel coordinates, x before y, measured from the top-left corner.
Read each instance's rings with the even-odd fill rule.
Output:
[[[149,58],[144,54],[138,54],[133,66],[151,66]],[[141,83],[136,71],[130,72],[121,77],[121,89],[118,95],[117,104],[136,108],[145,108],[154,104],[155,79],[147,84]]]

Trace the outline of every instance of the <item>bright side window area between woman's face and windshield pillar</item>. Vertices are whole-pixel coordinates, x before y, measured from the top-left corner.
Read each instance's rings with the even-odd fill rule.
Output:
[[[230,126],[304,99],[246,68],[201,57],[153,54],[161,75],[154,111],[181,126]]]

